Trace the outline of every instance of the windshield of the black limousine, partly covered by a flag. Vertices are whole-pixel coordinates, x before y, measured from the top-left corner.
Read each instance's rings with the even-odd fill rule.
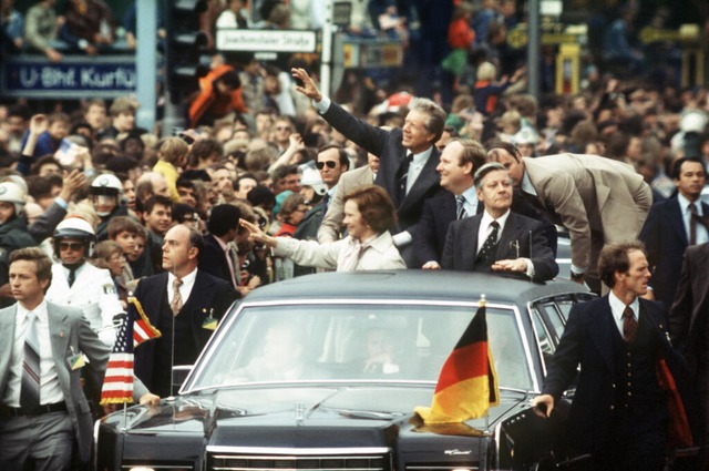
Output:
[[[253,306],[230,319],[189,389],[261,381],[438,381],[474,306]],[[530,390],[515,311],[487,308],[501,387]]]

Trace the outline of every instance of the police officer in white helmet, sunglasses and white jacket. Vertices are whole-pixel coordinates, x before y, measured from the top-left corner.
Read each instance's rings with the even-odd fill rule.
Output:
[[[123,313],[111,273],[86,263],[93,252],[95,233],[79,216],[68,216],[54,231],[52,283],[45,298],[59,305],[83,310],[91,328],[107,346],[115,342],[114,317]]]

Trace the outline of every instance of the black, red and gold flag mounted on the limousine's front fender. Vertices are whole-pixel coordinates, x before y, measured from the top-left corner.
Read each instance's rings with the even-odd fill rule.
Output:
[[[443,364],[431,407],[417,407],[424,423],[476,419],[500,403],[497,375],[487,345],[485,300]]]

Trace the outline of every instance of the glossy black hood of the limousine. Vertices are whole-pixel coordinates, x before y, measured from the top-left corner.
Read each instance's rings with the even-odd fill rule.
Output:
[[[518,408],[525,393],[503,391],[500,406],[490,409],[484,419],[466,421],[480,431],[490,430],[511,409]],[[132,408],[130,433],[202,431],[212,437],[212,444],[239,443],[263,447],[312,446],[312,438],[322,441],[322,430],[345,427],[381,433],[389,426],[410,423],[424,431],[413,418],[418,406],[430,406],[432,388],[397,386],[282,386],[267,388],[239,387],[216,392],[198,392],[164,400],[156,408]],[[114,414],[115,417],[116,414]],[[292,433],[294,429],[299,429]],[[278,437],[282,431],[282,436]],[[354,433],[357,434],[357,433]],[[338,438],[340,437],[340,438]],[[351,447],[352,437],[330,437],[329,447]],[[372,442],[381,443],[377,437]],[[337,443],[343,440],[343,443]],[[368,441],[366,437],[362,440]],[[366,443],[361,443],[364,446]]]

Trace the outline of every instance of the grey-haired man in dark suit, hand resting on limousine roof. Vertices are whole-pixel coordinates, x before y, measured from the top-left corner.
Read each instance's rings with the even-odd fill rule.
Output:
[[[484,212],[449,226],[443,269],[487,272],[545,281],[558,273],[554,253],[538,221],[510,211],[512,178],[499,163],[475,172],[475,191]]]

